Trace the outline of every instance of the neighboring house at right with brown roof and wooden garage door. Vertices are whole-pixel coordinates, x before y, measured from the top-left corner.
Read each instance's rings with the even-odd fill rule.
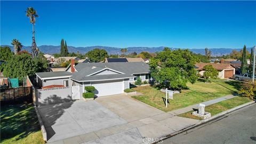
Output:
[[[212,65],[219,71],[218,78],[229,78],[235,74],[235,67],[230,63],[196,63],[195,68],[201,76],[204,74],[204,66],[206,65]]]

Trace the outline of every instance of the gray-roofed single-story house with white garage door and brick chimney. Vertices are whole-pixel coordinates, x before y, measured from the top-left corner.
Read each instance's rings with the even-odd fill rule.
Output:
[[[95,95],[101,97],[123,93],[138,77],[142,81],[150,79],[149,66],[145,62],[78,63],[75,66],[75,61],[71,60],[70,67],[66,71],[36,73],[36,75],[39,86],[71,86],[79,91],[80,98],[85,92],[85,86],[94,86]]]

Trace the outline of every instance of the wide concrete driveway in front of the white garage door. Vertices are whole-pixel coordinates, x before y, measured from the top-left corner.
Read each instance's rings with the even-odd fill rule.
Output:
[[[38,111],[48,143],[150,143],[198,122],[124,94],[47,105]]]

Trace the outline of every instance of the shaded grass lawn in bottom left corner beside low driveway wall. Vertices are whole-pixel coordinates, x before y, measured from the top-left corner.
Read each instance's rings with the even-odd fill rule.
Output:
[[[44,143],[32,104],[1,107],[1,143]]]

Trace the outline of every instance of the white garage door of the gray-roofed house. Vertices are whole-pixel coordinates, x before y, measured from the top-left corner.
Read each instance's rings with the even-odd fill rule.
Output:
[[[123,79],[118,81],[91,82],[91,84],[95,87],[94,93],[97,97],[124,93]]]

